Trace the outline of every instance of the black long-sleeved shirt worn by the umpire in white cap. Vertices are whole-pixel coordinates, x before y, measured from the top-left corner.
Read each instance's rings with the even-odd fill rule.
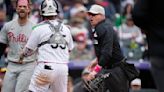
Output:
[[[93,44],[98,64],[103,68],[111,68],[114,63],[124,59],[117,33],[109,19],[98,23],[92,30]]]

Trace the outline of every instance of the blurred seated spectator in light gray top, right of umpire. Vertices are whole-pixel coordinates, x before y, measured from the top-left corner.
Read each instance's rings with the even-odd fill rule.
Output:
[[[126,23],[122,24],[118,31],[120,44],[127,59],[139,60],[142,58],[144,39],[140,28],[134,25],[132,17],[126,18]]]

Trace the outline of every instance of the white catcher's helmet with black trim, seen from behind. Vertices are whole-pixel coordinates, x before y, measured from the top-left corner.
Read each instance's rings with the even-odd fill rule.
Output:
[[[42,16],[55,16],[59,13],[55,0],[43,0],[40,6]]]

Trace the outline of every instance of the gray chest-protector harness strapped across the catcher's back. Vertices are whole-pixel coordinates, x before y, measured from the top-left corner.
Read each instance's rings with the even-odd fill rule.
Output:
[[[41,47],[45,44],[51,44],[52,48],[60,47],[61,49],[65,49],[67,42],[64,39],[65,35],[61,34],[60,31],[62,31],[62,22],[59,21],[58,25],[54,26],[50,21],[45,21],[45,23],[49,24],[50,30],[52,31],[52,34],[50,38],[47,41],[41,42],[38,47]]]

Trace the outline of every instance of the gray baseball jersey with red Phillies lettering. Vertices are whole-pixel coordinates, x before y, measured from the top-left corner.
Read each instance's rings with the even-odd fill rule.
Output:
[[[34,24],[28,20],[25,25],[20,25],[18,19],[14,19],[6,23],[0,32],[0,42],[9,45],[7,59],[9,61],[18,62],[20,53],[25,46]],[[35,55],[24,58],[24,62],[35,60]]]

